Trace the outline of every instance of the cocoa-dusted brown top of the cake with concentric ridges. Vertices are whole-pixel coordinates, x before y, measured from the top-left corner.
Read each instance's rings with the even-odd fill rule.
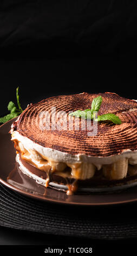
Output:
[[[101,95],[102,105],[98,114],[114,113],[122,120],[121,125],[110,122],[98,123],[96,136],[88,136],[86,131],[73,130],[41,130],[41,111],[49,111],[56,107],[58,111],[76,111],[77,109],[91,108],[94,97]],[[134,111],[129,111],[134,109]],[[123,112],[123,113],[122,113]],[[68,118],[68,116],[67,116]],[[73,118],[73,117],[72,117]],[[84,119],[80,121],[80,127]],[[57,122],[57,119],[55,120]],[[21,135],[46,148],[56,149],[62,152],[75,154],[86,154],[91,156],[112,156],[121,154],[126,149],[137,150],[137,102],[125,99],[113,93],[100,94],[74,94],[50,97],[34,105],[27,107],[20,115],[14,129]]]

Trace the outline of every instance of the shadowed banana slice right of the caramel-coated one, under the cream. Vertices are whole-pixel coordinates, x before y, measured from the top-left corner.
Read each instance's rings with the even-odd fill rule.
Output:
[[[103,175],[109,180],[120,180],[126,177],[128,170],[128,159],[122,158],[112,164],[105,164],[102,167]]]

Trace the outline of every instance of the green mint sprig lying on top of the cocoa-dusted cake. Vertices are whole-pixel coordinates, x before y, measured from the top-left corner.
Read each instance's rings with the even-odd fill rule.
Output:
[[[79,118],[92,119],[94,117],[94,111],[98,112],[102,104],[102,96],[95,97],[92,101],[91,109],[77,110],[69,115],[73,115]],[[98,115],[95,121],[112,121],[114,124],[121,124],[121,119],[112,113]]]

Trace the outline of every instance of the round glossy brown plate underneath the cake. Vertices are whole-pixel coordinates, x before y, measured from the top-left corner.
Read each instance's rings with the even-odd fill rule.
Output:
[[[14,143],[10,141],[10,126],[15,119],[0,126],[0,182],[14,191],[32,198],[73,205],[116,205],[137,201],[137,186],[114,193],[74,194],[67,196],[65,192],[38,185],[17,169]],[[9,180],[7,179],[9,177]]]

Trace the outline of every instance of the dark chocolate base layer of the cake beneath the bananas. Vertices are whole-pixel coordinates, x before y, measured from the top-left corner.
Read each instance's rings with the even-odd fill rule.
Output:
[[[19,169],[34,179],[38,184],[46,186],[47,179],[49,178],[48,186],[65,192],[75,193],[96,193],[96,192],[115,192],[137,185],[137,175],[127,176],[122,180],[107,180],[101,177],[101,171],[97,171],[92,179],[75,180],[72,178],[64,178],[54,173],[49,176],[46,172],[37,169],[31,164],[21,159],[20,154],[17,154],[16,161],[19,164]]]

